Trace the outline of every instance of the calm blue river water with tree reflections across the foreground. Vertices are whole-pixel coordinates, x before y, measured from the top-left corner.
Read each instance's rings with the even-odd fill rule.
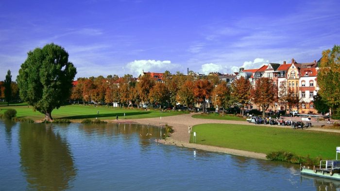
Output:
[[[0,121],[0,190],[340,190],[298,166],[154,143],[160,128]]]

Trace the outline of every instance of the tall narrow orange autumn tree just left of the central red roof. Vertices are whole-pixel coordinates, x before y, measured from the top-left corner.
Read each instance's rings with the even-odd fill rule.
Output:
[[[138,94],[139,94],[140,100],[144,102],[144,104],[146,103],[149,104],[150,102],[149,93],[154,83],[155,83],[154,80],[148,74],[145,74],[139,77],[139,82],[137,83]]]

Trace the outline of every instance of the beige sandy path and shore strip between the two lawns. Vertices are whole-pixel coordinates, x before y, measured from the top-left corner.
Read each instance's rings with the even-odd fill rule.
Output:
[[[227,153],[233,154],[238,156],[245,156],[251,157],[256,159],[266,159],[266,154],[264,153],[255,153],[251,151],[244,151],[244,150],[237,150],[237,149],[230,149],[230,148],[223,148],[217,146],[209,146],[203,144],[195,144],[189,143],[190,134],[188,133],[188,127],[192,127],[198,124],[207,124],[207,123],[217,123],[217,124],[240,124],[240,125],[254,125],[253,123],[248,123],[246,121],[228,121],[228,120],[215,120],[215,119],[199,119],[193,118],[192,115],[197,113],[189,113],[183,115],[175,115],[175,116],[168,116],[162,118],[146,118],[146,119],[119,119],[117,120],[108,120],[108,122],[112,123],[137,123],[137,124],[145,124],[145,125],[152,125],[152,126],[165,126],[166,124],[171,126],[174,132],[171,134],[169,138],[166,140],[158,140],[159,143],[164,144],[172,144],[176,146],[183,146],[187,148],[195,148],[201,149],[206,151],[212,152],[220,152],[220,153]],[[313,128],[308,128],[307,130],[320,130],[320,131],[328,131],[328,132],[339,132],[338,129],[324,129],[320,128],[324,125],[322,122],[313,123]],[[256,125],[258,126],[258,125]],[[268,127],[269,125],[262,125]],[[282,127],[282,128],[290,128],[285,126],[272,126],[272,127]]]

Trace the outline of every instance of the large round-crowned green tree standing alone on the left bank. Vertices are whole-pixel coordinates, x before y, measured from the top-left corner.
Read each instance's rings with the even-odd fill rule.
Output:
[[[17,76],[20,98],[51,121],[52,110],[70,97],[76,68],[68,62],[68,52],[53,43],[27,54]]]

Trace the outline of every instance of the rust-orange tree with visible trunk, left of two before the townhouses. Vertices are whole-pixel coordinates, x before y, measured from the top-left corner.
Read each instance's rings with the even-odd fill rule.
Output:
[[[243,76],[232,83],[231,96],[240,105],[242,115],[244,114],[244,106],[249,103],[251,89],[250,81],[246,80]]]

